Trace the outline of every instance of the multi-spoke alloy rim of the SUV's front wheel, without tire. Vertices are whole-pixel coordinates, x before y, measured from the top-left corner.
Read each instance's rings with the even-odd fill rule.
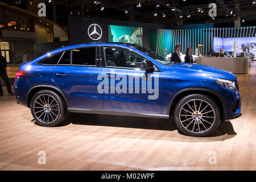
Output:
[[[184,129],[192,133],[204,133],[213,126],[216,113],[207,101],[193,99],[181,107],[179,119]]]

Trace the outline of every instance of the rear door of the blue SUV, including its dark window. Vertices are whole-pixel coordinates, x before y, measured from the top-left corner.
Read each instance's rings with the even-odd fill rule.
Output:
[[[65,94],[69,107],[102,109],[102,94],[97,92],[97,51],[96,46],[65,51],[52,69],[52,79]]]

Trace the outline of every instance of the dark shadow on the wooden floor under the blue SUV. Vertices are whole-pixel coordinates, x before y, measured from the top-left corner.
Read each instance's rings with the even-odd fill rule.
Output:
[[[110,126],[110,127],[127,127],[134,129],[147,130],[163,130],[175,131],[177,127],[174,119],[159,119],[159,118],[142,118],[142,117],[125,117],[118,115],[102,115],[102,114],[82,114],[69,113],[68,117],[58,126],[66,126],[72,123],[73,125],[91,125],[91,126]],[[185,135],[178,130],[181,135]],[[236,136],[233,125],[230,121],[221,123],[218,129],[207,138],[218,138],[225,140]],[[217,139],[216,138],[216,139]],[[217,139],[218,140],[218,139]]]

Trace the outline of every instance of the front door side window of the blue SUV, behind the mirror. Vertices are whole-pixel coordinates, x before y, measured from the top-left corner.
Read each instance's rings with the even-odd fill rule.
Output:
[[[144,57],[137,55],[127,49],[104,47],[106,66],[140,68]]]

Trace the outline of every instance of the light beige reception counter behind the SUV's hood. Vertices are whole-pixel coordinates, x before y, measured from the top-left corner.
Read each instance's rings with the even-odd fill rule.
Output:
[[[249,57],[199,57],[197,64],[223,69],[232,73],[249,73]]]

